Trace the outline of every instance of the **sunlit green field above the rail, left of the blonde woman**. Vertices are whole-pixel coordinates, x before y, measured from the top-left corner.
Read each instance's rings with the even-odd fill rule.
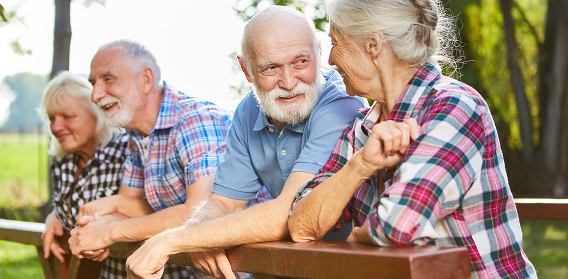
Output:
[[[47,136],[0,134],[0,206],[22,208],[48,201]]]

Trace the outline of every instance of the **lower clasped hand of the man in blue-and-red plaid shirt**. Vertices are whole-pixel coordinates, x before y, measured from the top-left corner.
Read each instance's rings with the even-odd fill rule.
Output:
[[[82,259],[89,257],[91,260],[102,261],[108,256],[108,246],[112,245],[110,240],[109,223],[96,213],[93,218],[84,217],[78,220],[80,227],[76,227],[71,231],[69,238],[69,248],[76,257]],[[104,257],[99,257],[105,255]]]

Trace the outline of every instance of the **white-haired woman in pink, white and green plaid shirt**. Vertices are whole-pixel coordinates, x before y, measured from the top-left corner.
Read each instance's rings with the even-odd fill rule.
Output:
[[[327,7],[329,64],[348,94],[374,103],[358,111],[327,164],[296,194],[292,239],[320,239],[353,222],[350,241],[462,246],[473,278],[536,278],[487,103],[438,65],[452,66],[447,54],[456,43],[441,2]]]

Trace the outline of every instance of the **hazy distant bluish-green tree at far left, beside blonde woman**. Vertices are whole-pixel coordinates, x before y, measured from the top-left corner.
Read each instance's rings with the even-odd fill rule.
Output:
[[[2,126],[2,131],[37,132],[41,120],[37,113],[41,94],[47,77],[32,73],[18,73],[7,76],[4,84],[16,95],[10,105],[10,115]]]

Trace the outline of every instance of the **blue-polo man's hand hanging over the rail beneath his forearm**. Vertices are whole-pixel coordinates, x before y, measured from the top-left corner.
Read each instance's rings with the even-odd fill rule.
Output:
[[[207,276],[236,279],[224,250],[189,253],[196,268]]]

